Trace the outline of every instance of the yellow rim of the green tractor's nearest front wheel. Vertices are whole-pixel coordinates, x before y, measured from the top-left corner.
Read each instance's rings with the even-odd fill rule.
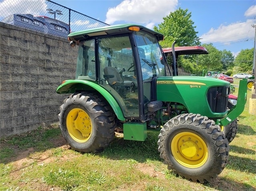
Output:
[[[191,132],[177,134],[171,142],[171,152],[178,163],[189,168],[204,165],[208,158],[206,143]]]

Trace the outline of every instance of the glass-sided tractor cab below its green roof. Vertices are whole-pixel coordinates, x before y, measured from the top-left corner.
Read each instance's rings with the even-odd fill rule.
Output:
[[[137,30],[120,35],[88,34],[79,39],[76,79],[106,89],[118,102],[125,119],[145,121],[147,104],[155,97],[152,81],[165,75],[158,43],[158,38],[163,37],[139,27]]]

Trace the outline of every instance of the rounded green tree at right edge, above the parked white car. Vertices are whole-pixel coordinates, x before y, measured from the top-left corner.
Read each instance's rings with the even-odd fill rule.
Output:
[[[236,56],[234,60],[234,65],[236,68],[233,70],[233,74],[244,72],[244,73],[252,73],[252,65],[253,65],[253,51],[254,49],[242,49],[240,53]]]

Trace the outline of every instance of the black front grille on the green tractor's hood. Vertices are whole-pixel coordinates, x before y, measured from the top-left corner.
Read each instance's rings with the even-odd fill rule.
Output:
[[[207,100],[212,112],[223,113],[228,107],[228,95],[230,87],[211,87],[207,92]]]

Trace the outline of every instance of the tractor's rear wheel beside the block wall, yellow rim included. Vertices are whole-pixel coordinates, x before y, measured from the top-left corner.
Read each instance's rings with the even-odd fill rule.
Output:
[[[69,96],[60,106],[58,118],[66,143],[80,152],[100,152],[115,136],[111,107],[97,94],[82,92]]]

